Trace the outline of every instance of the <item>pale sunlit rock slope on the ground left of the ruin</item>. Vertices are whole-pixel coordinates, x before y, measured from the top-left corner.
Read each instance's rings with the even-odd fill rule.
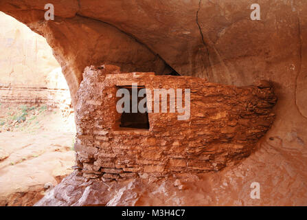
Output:
[[[33,206],[72,173],[73,133],[0,133],[0,206]]]

